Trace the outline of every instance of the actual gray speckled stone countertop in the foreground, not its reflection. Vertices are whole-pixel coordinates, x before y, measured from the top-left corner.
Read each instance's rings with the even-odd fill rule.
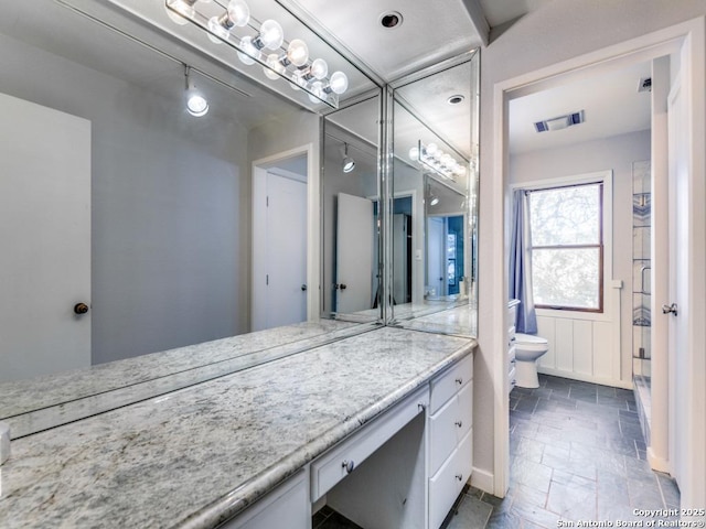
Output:
[[[0,527],[215,527],[474,345],[383,327],[14,440]]]

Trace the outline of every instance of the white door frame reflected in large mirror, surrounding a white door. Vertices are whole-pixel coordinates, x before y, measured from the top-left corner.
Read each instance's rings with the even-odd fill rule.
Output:
[[[261,284],[260,278],[256,273],[259,267],[258,258],[255,251],[257,241],[257,220],[261,215],[261,201],[257,192],[257,180],[267,174],[268,169],[276,166],[278,162],[284,162],[291,158],[307,156],[307,321],[315,321],[319,319],[319,259],[320,259],[320,236],[319,236],[319,204],[320,204],[320,183],[321,177],[317,170],[318,163],[314,156],[313,143],[306,143],[295,147],[287,151],[272,154],[270,156],[254,160],[250,166],[250,291],[248,294],[249,302],[249,322],[248,327],[252,328],[258,310],[258,300],[255,295],[257,284]],[[259,201],[259,202],[257,202]]]

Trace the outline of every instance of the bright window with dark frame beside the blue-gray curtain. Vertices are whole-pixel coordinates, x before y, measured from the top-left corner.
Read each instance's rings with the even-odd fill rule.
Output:
[[[603,184],[530,192],[535,306],[603,312]]]

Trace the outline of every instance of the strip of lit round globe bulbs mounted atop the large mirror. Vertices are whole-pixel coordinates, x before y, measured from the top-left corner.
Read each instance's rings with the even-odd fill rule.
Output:
[[[293,89],[307,91],[312,102],[339,108],[339,96],[349,88],[347,76],[343,72],[329,76],[327,62],[311,60],[304,41],[285,41],[276,20],[259,23],[253,19],[246,0],[229,0],[225,8],[223,2],[212,0],[164,0],[164,6],[171,20],[182,25],[192,22],[213,42],[231,45],[240,62],[258,63],[269,79],[284,78]],[[240,35],[235,34],[236,29]]]

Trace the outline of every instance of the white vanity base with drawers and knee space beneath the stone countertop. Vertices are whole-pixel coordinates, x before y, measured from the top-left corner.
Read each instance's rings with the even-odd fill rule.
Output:
[[[473,355],[330,447],[226,529],[309,529],[325,503],[365,528],[439,529],[473,462]]]

